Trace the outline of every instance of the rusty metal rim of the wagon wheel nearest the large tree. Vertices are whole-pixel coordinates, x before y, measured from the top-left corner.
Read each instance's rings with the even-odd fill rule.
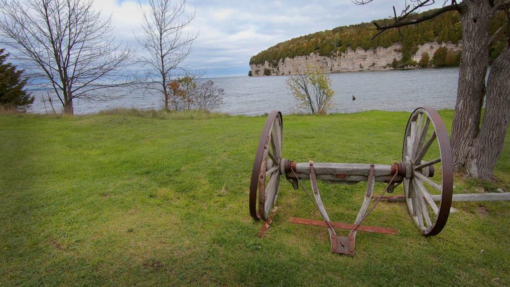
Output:
[[[451,148],[450,148],[450,140],[448,137],[448,132],[443,123],[443,119],[439,115],[439,113],[429,106],[423,106],[417,108],[413,111],[411,116],[409,117],[409,121],[407,121],[407,126],[404,133],[404,140],[402,145],[402,161],[406,161],[405,159],[405,151],[407,146],[407,134],[408,131],[411,130],[411,124],[413,120],[418,116],[419,113],[424,113],[430,119],[430,123],[432,124],[433,129],[436,133],[436,140],[438,141],[441,163],[442,163],[442,190],[441,190],[441,205],[439,206],[439,210],[436,216],[436,220],[426,229],[421,229],[421,233],[423,235],[437,235],[443,230],[448,221],[448,216],[450,214],[450,207],[453,196],[453,164],[452,164],[452,156],[451,156]],[[414,172],[414,171],[413,171]],[[413,176],[410,180],[413,180],[415,176]],[[405,187],[406,181],[404,180],[404,188],[409,188],[409,186]],[[412,214],[412,207],[409,204],[409,201],[406,200],[407,208]]]

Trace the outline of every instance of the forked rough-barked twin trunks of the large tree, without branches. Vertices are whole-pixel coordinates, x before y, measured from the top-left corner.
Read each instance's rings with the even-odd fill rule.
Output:
[[[462,57],[458,77],[457,102],[452,123],[451,146],[453,165],[457,172],[469,176],[493,179],[493,170],[503,148],[508,122],[507,91],[510,65],[506,59],[508,46],[493,64],[486,91],[486,73],[489,66],[489,23],[493,7],[487,0],[463,2]],[[496,80],[497,79],[497,80]],[[487,94],[486,94],[487,92]],[[487,95],[487,113],[481,123],[481,109]],[[506,117],[506,120],[505,120]]]

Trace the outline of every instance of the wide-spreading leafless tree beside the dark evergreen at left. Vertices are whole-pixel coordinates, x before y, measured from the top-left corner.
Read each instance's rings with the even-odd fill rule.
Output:
[[[115,99],[119,96],[106,89],[131,83],[124,68],[134,51],[115,43],[111,17],[101,18],[91,0],[0,4],[0,41],[17,50],[15,56],[32,80],[53,88],[65,113],[73,113],[73,99]]]

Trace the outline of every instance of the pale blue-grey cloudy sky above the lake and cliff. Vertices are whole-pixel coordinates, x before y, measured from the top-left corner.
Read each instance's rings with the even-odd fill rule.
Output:
[[[392,5],[399,8],[403,3],[374,0],[356,6],[350,0],[188,0],[187,9],[196,9],[188,32],[199,32],[188,58],[189,67],[207,69],[207,77],[246,76],[250,57],[278,42],[385,18]],[[112,15],[116,40],[137,45],[134,35],[142,36],[138,0],[95,0],[94,5],[105,17]],[[429,8],[435,7],[439,3]]]

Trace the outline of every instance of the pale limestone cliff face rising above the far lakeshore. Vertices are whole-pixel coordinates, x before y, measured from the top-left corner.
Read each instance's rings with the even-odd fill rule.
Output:
[[[432,58],[439,47],[446,46],[447,49],[460,51],[461,44],[428,42],[418,45],[418,51],[413,56],[413,60],[420,61],[425,52]],[[344,53],[338,52],[333,56],[319,56],[310,54],[309,56],[297,56],[294,58],[285,58],[280,60],[277,65],[271,65],[269,62],[264,64],[251,64],[251,74],[253,76],[264,76],[264,74],[274,75],[295,75],[298,70],[306,70],[307,65],[322,67],[324,73],[337,73],[345,71],[364,71],[364,70],[384,70],[391,69],[393,59],[400,60],[401,44],[395,43],[387,48],[378,47],[367,51],[358,48],[356,51],[347,49]],[[264,73],[265,72],[265,73]]]

